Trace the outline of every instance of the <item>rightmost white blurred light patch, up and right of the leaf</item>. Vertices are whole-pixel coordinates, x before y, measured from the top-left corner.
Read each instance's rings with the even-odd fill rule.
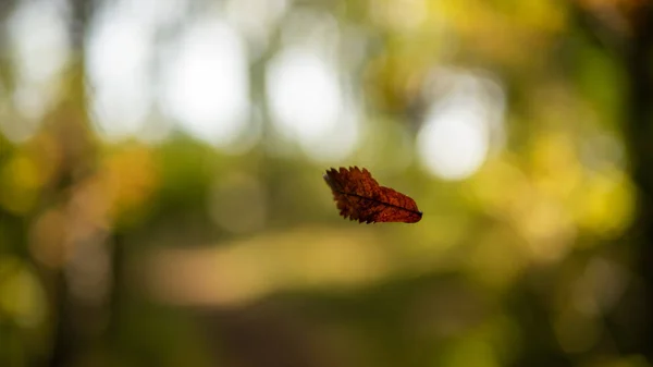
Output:
[[[429,172],[445,180],[464,180],[485,161],[492,130],[501,124],[504,99],[490,79],[472,74],[447,78],[451,86],[427,114],[417,148]]]

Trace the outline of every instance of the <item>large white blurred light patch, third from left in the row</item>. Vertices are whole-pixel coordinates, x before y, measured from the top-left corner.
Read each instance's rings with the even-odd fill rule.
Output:
[[[226,146],[250,118],[248,60],[242,37],[225,23],[189,26],[167,65],[161,107],[193,136]]]

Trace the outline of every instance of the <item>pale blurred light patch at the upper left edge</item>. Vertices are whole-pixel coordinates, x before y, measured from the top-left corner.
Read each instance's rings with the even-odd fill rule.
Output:
[[[29,138],[59,93],[58,77],[70,53],[66,20],[60,8],[57,1],[23,1],[9,17],[9,40],[16,69],[12,99],[23,118],[0,119],[0,132],[10,140]]]

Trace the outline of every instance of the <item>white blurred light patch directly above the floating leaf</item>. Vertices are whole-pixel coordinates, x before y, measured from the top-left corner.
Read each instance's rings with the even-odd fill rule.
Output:
[[[268,68],[267,94],[279,132],[317,160],[343,158],[358,138],[356,113],[336,71],[317,53],[289,48]]]

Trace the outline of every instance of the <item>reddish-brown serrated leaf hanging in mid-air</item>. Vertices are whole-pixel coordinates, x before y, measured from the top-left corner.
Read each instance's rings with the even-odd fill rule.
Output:
[[[341,216],[359,222],[419,222],[422,212],[410,197],[390,187],[380,186],[370,172],[358,167],[332,168],[324,181],[333,192]]]

